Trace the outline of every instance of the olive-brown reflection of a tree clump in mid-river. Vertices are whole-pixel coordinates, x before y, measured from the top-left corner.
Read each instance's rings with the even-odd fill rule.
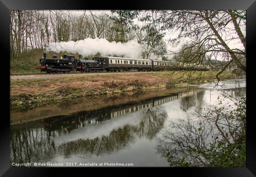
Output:
[[[61,144],[58,147],[58,153],[63,153],[65,157],[74,154],[102,155],[126,148],[134,143],[135,135],[151,139],[163,127],[163,122],[167,117],[164,111],[161,107],[150,108],[143,112],[143,118],[139,125],[125,125],[122,128],[112,130],[108,136],[97,137],[92,140],[79,139]]]

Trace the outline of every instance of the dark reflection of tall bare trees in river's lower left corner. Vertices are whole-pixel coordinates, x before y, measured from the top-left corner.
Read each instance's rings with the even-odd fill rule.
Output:
[[[37,162],[51,159],[56,153],[51,136],[56,132],[47,132],[43,128],[30,129],[19,127],[11,129],[10,149],[13,162]]]

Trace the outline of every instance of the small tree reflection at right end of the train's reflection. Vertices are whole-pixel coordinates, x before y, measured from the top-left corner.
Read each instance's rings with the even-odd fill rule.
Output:
[[[184,110],[188,110],[189,108],[195,106],[196,108],[202,107],[204,101],[204,93],[205,89],[201,89],[199,91],[193,92],[193,95],[186,96],[181,99],[180,107]]]

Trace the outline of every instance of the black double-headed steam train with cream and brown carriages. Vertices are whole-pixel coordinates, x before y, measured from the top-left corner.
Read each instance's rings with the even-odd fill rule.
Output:
[[[181,63],[173,61],[155,61],[151,59],[134,59],[124,57],[94,57],[93,60],[88,58],[75,59],[74,55],[62,55],[57,58],[47,58],[44,53],[43,58],[39,59],[41,66],[37,68],[42,72],[100,72],[100,71],[160,71],[160,70],[210,70],[210,66],[198,65],[196,63]]]

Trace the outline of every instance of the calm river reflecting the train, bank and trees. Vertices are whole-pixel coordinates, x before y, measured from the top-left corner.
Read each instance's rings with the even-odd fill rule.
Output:
[[[216,82],[204,83],[129,92],[93,102],[11,110],[10,162],[32,166],[35,162],[37,166],[169,166],[162,152],[171,123],[215,105],[221,94],[232,98],[246,95],[246,78],[223,81],[217,87]]]

